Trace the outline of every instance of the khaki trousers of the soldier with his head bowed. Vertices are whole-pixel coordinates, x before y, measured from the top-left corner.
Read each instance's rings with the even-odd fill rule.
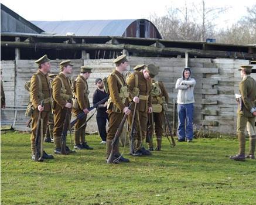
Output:
[[[129,127],[131,128],[132,124],[132,114],[133,110],[131,111],[131,114],[128,116],[129,121]],[[136,115],[134,119],[134,139],[136,140],[136,146],[135,151],[140,149],[142,147],[142,142],[146,138],[146,128],[147,128],[147,122],[148,122],[148,113],[147,112],[141,112],[136,110]]]

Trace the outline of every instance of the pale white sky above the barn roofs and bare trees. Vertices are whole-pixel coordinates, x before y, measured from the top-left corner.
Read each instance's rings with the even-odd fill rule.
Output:
[[[230,9],[220,16],[220,24],[229,25],[245,15],[246,6],[256,4],[255,0],[204,0],[206,7]],[[202,5],[202,0],[187,0]],[[170,6],[182,6],[185,0],[1,0],[1,3],[26,20],[99,20],[99,19],[141,19],[155,13],[166,15]],[[223,27],[222,26],[222,27]]]

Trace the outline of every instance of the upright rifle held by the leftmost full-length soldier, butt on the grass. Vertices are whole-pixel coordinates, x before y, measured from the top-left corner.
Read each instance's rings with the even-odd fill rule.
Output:
[[[43,107],[43,101],[41,101],[40,104]],[[42,120],[41,120],[41,115],[42,112],[39,111],[39,115],[38,115],[38,119],[37,119],[37,124],[36,124],[36,139],[35,139],[35,147],[36,147],[36,151],[35,151],[35,161],[38,162],[43,162],[43,155],[42,155]],[[42,148],[41,148],[42,147]],[[39,153],[40,153],[40,158],[39,158]]]

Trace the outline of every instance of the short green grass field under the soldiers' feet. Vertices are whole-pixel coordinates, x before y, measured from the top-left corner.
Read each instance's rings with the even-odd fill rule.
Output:
[[[256,160],[227,157],[237,152],[237,139],[170,148],[164,138],[162,152],[108,165],[97,135],[87,136],[93,151],[43,163],[30,160],[29,137],[1,135],[1,204],[256,204]],[[45,150],[52,153],[53,144]]]

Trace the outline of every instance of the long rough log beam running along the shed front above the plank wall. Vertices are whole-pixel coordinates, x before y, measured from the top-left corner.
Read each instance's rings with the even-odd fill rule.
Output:
[[[128,44],[118,44],[118,45],[108,45],[108,44],[96,44],[96,43],[29,43],[29,42],[5,42],[1,41],[1,47],[26,47],[26,48],[37,48],[37,49],[69,49],[69,50],[114,50],[122,51],[123,49],[128,50],[128,52],[135,53],[151,53],[151,54],[165,54],[165,55],[185,55],[189,52],[190,56],[197,57],[209,57],[217,58],[224,57],[234,59],[256,59],[256,53],[237,53],[237,52],[224,52],[217,50],[200,50],[200,49],[183,49],[177,47],[151,47],[151,46],[141,46],[141,45],[128,45]]]

